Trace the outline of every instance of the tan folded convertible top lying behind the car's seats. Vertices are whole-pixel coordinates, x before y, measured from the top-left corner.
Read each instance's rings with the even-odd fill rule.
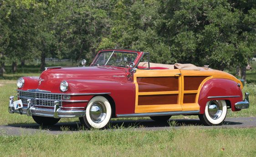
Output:
[[[143,66],[148,68],[148,62],[140,62],[138,66]],[[195,66],[194,64],[159,64],[159,63],[149,63],[150,67],[163,67],[168,69],[180,69],[180,70],[200,70],[199,67]]]

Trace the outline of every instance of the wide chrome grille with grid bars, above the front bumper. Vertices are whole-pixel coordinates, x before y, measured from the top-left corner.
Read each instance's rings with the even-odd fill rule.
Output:
[[[62,95],[33,92],[33,91],[18,91],[18,97],[21,99],[23,104],[27,104],[27,99],[31,99],[33,105],[54,107],[54,101],[58,100],[59,105],[62,105]]]

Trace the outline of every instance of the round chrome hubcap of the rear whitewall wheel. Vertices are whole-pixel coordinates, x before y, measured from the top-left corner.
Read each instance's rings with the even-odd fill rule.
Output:
[[[208,105],[208,113],[213,119],[220,118],[222,114],[222,103],[218,100],[210,101]]]

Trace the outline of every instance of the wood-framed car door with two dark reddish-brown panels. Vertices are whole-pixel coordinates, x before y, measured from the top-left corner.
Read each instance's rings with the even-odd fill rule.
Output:
[[[179,69],[138,69],[135,113],[182,111],[182,80]]]

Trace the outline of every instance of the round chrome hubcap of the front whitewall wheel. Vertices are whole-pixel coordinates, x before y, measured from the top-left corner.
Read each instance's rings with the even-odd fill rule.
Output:
[[[102,102],[95,102],[90,108],[90,118],[94,123],[101,123],[105,118],[107,109]]]

